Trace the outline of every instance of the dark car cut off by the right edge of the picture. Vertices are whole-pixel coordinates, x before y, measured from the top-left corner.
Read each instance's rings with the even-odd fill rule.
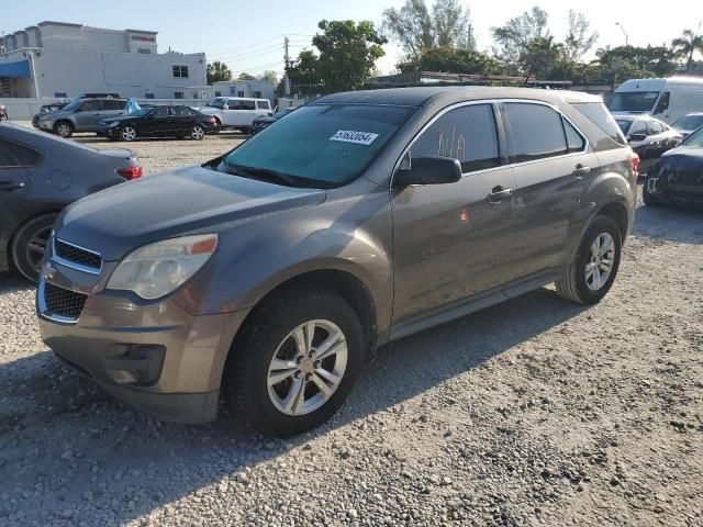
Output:
[[[703,205],[703,126],[665,153],[641,190],[646,205]]]

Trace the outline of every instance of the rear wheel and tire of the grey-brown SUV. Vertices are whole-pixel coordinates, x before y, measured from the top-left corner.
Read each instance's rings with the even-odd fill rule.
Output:
[[[599,243],[601,248],[604,248],[607,237],[612,243],[612,251],[606,251],[602,259],[594,261],[594,244]],[[585,231],[567,273],[556,282],[559,296],[580,304],[600,302],[607,294],[617,276],[622,245],[622,234],[617,224],[607,216],[595,216]],[[611,262],[610,272],[607,277],[603,277],[607,268],[607,261]],[[590,277],[587,266],[592,269]],[[601,274],[601,271],[603,271],[603,274]]]

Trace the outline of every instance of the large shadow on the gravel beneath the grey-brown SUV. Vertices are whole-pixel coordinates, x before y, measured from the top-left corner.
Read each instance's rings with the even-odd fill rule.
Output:
[[[263,438],[224,412],[202,426],[156,422],[48,351],[0,365],[0,524],[122,524],[223,478],[247,485],[247,468],[422,394],[584,310],[542,289],[394,343],[331,422],[289,441]]]

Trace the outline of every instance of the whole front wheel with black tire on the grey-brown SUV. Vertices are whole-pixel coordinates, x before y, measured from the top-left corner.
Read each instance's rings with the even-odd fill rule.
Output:
[[[301,348],[309,347],[298,346],[300,339],[292,332],[305,324],[314,324],[311,333],[315,346],[339,330],[343,339],[328,339],[333,343],[328,349],[337,352],[322,362],[314,357],[302,359]],[[305,337],[304,333],[299,335]],[[364,343],[361,323],[341,296],[301,289],[277,294],[255,309],[235,338],[223,379],[225,403],[231,411],[244,413],[266,435],[288,437],[310,430],[327,421],[347,399],[364,363]],[[279,366],[288,363],[289,368],[275,368],[275,357]],[[341,375],[336,389],[326,396],[317,383],[323,382],[327,390],[334,384],[317,375],[321,370],[327,375],[331,370]],[[281,380],[269,388],[271,375]],[[294,391],[301,385],[302,392]],[[293,396],[295,393],[302,393],[302,401]],[[286,401],[291,404],[286,405]]]

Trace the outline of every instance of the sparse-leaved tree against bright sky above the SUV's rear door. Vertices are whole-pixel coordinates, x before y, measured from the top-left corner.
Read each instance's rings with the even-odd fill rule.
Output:
[[[549,36],[548,18],[546,11],[535,5],[531,11],[510,19],[505,25],[493,27],[493,53],[509,67],[517,67],[529,43]]]

